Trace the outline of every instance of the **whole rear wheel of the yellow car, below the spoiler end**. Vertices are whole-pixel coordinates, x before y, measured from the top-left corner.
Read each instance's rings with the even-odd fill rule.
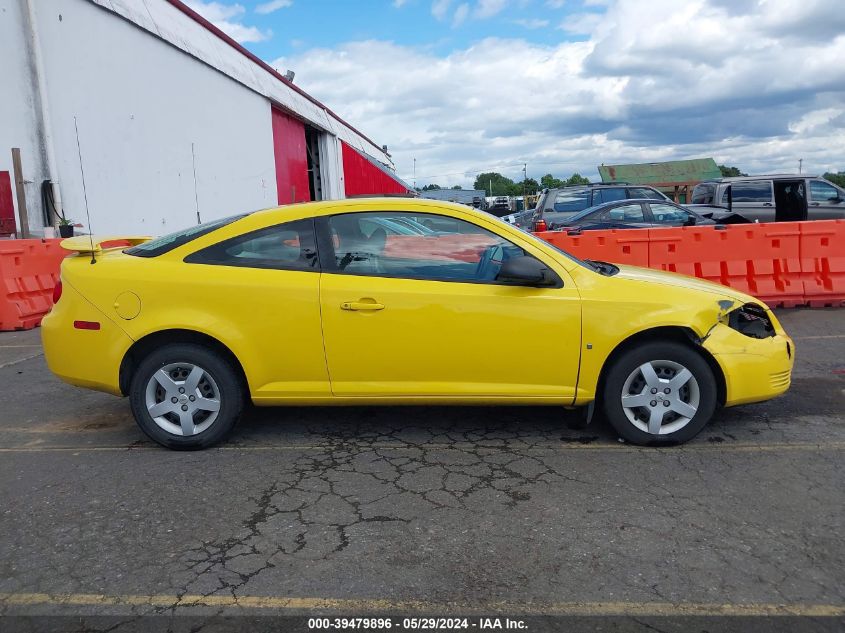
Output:
[[[199,345],[174,344],[144,358],[129,392],[141,430],[162,446],[208,448],[234,428],[244,390],[232,366]]]

